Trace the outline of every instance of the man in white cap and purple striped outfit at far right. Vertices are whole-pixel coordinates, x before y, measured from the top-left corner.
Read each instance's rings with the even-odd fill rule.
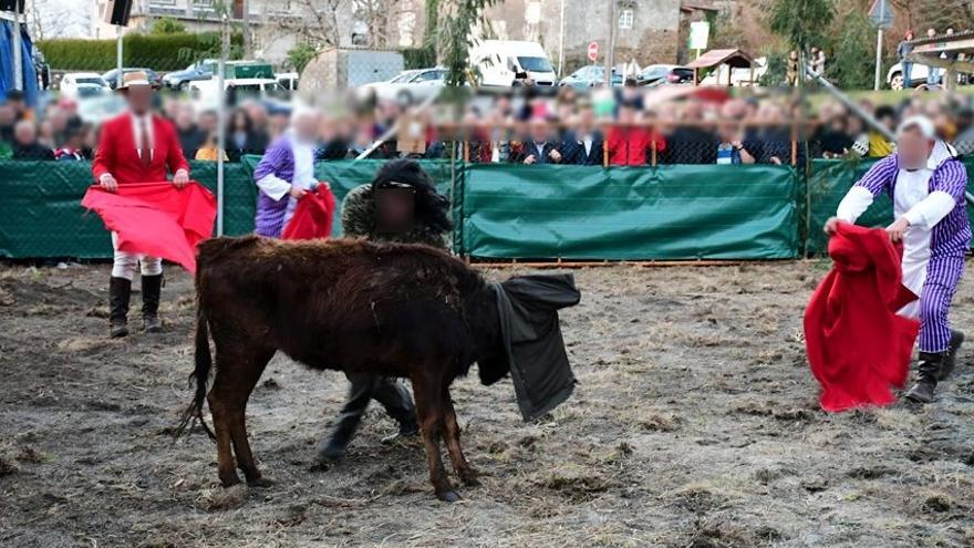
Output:
[[[906,399],[930,403],[937,382],[953,371],[964,341],[963,333],[951,330],[949,313],[971,242],[967,172],[928,117],[905,120],[897,141],[897,152],[852,186],[825,229],[832,234],[839,221],[856,223],[881,193],[892,197],[897,220],[887,232],[903,242],[903,286],[919,297],[900,311],[920,319],[918,381]]]

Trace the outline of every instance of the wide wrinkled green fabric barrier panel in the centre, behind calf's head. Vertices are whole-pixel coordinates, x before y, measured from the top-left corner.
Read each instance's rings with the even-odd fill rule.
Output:
[[[789,259],[788,166],[469,165],[463,249],[483,258]]]

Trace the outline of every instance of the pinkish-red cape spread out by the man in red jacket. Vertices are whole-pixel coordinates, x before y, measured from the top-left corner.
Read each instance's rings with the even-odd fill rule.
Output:
[[[196,245],[213,236],[217,201],[203,185],[128,183],[117,193],[92,186],[81,205],[118,234],[118,249],[162,257],[196,272]]]

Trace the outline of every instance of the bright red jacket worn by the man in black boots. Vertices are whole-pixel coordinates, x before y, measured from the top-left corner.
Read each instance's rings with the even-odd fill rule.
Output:
[[[105,122],[99,149],[92,163],[95,180],[102,175],[112,174],[118,184],[154,183],[166,180],[169,173],[177,169],[189,172],[189,164],[183,156],[183,147],[173,124],[162,116],[152,114],[151,159],[143,163],[138,154],[133,114],[126,112]]]

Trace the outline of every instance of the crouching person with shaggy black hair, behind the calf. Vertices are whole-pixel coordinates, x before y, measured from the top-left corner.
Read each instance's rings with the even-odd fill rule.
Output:
[[[387,162],[372,183],[349,192],[342,201],[342,232],[345,238],[371,241],[425,244],[447,249],[453,229],[449,200],[436,192],[429,175],[414,159]],[[323,461],[341,459],[362,422],[369,402],[375,400],[396,423],[398,431],[383,438],[390,443],[419,432],[410,391],[396,379],[345,373],[350,387],[345,405],[327,440],[318,444]]]

